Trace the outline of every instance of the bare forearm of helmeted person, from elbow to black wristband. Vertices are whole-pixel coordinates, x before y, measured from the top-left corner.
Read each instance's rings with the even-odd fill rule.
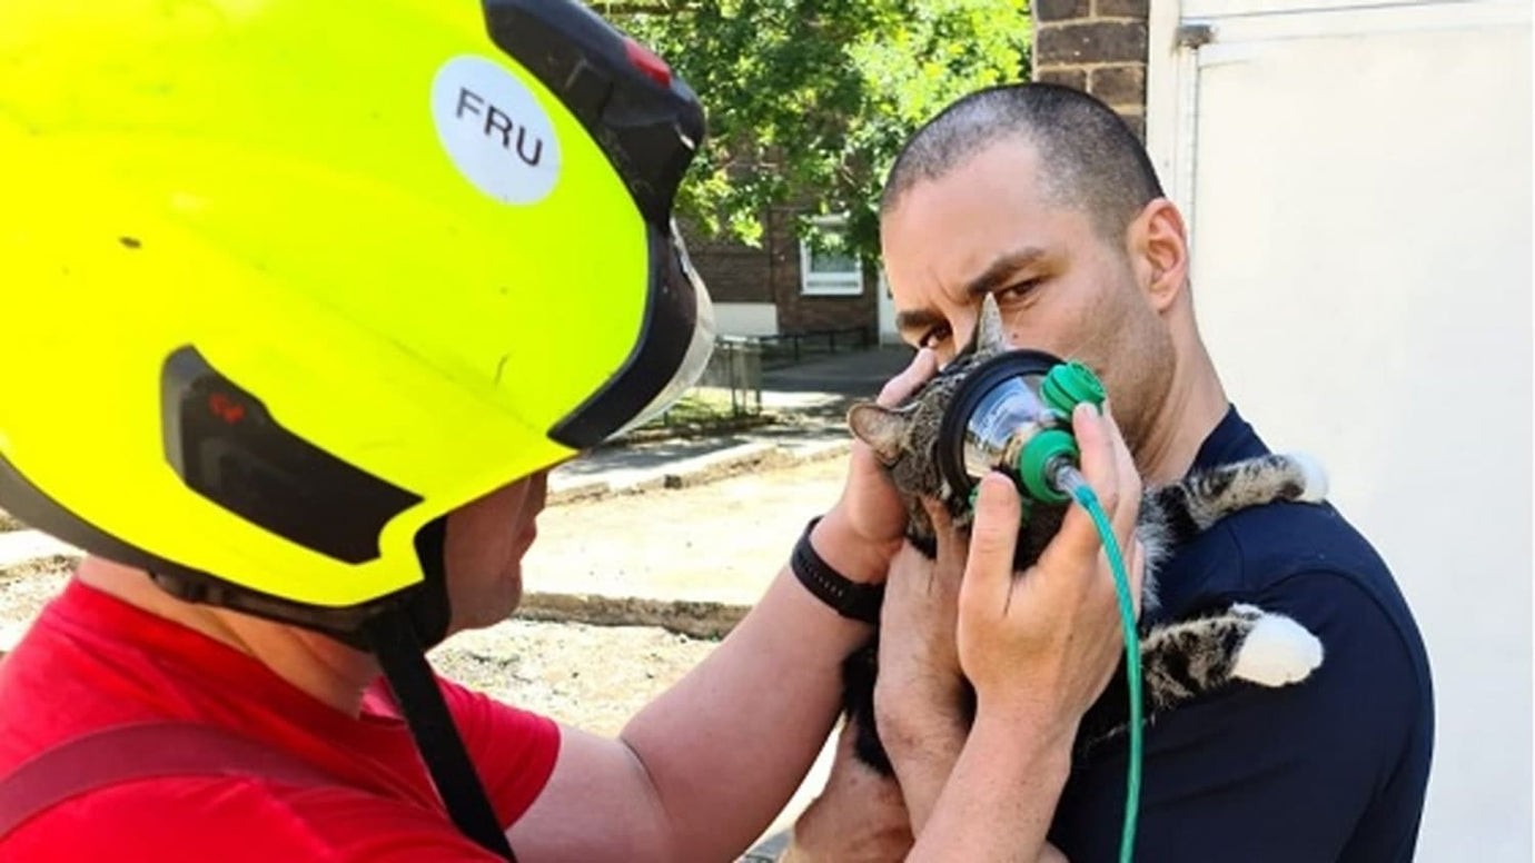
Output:
[[[725,860],[798,788],[835,722],[841,660],[872,634],[787,570],[729,637],[623,729],[686,860]]]

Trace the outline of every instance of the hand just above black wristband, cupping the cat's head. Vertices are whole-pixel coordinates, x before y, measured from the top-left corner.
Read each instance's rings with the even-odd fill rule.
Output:
[[[938,372],[930,350],[918,350],[904,372],[890,378],[875,399],[895,407]],[[834,570],[858,582],[880,582],[901,548],[906,510],[890,478],[863,441],[853,439],[843,494],[810,531],[815,551]]]

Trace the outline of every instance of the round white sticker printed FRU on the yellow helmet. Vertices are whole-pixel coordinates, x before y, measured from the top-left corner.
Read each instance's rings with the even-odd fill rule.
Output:
[[[554,123],[516,75],[484,57],[454,57],[431,81],[437,138],[470,183],[503,204],[534,204],[560,177]]]

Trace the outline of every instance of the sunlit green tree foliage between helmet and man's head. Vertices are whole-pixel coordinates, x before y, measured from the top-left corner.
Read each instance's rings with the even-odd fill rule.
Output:
[[[654,48],[703,100],[709,140],[678,213],[757,246],[771,207],[846,213],[878,255],[880,187],[944,104],[1028,77],[1027,0],[640,0],[594,8]]]

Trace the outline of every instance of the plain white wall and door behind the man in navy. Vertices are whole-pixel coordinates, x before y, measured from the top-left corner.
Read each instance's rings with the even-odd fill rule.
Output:
[[[1294,5],[1185,0],[1214,25],[1194,51],[1156,0],[1148,143],[1230,395],[1325,459],[1423,630],[1418,860],[1527,861],[1529,6]]]

